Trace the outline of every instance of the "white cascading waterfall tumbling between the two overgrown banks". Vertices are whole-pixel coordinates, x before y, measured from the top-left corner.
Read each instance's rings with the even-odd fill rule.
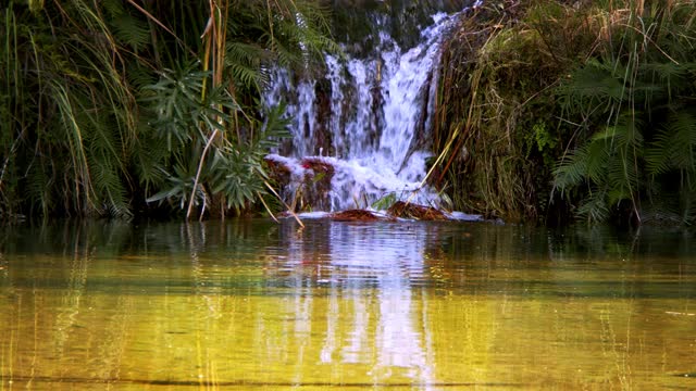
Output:
[[[427,127],[434,108],[439,49],[459,14],[436,14],[421,33],[420,45],[402,50],[382,31],[375,54],[339,60],[327,55],[324,85],[331,86],[328,117],[318,117],[316,80],[293,81],[276,70],[268,105],[286,100],[291,118],[291,152],[269,159],[290,167],[297,182],[306,178],[302,159],[333,166],[330,209],[369,207],[389,194],[397,200],[437,206],[439,198],[423,186],[430,157]],[[325,103],[324,103],[325,104]],[[326,105],[324,105],[326,108]],[[320,125],[322,124],[322,125]],[[331,143],[318,143],[326,129]],[[295,191],[297,186],[290,186]]]

